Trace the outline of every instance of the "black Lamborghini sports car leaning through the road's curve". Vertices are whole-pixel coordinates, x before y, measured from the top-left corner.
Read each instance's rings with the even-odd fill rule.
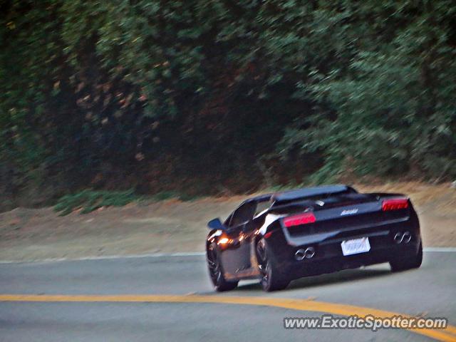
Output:
[[[418,268],[420,223],[408,197],[327,185],[252,197],[208,223],[207,264],[217,291],[260,279],[265,291],[302,276],[389,262]]]

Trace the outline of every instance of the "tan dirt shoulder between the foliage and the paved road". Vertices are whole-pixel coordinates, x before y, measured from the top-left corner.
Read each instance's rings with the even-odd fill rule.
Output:
[[[357,188],[409,195],[418,209],[425,247],[456,247],[456,189],[450,184],[401,182]],[[227,217],[245,197],[130,204],[65,217],[52,208],[17,208],[0,214],[0,260],[202,252],[206,222]]]

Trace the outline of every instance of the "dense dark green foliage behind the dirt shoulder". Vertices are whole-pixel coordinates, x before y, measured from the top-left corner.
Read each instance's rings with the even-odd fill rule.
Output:
[[[456,177],[452,0],[1,0],[0,43],[14,204]]]

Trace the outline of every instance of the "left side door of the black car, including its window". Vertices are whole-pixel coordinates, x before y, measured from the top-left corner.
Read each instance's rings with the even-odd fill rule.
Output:
[[[234,276],[250,267],[249,242],[246,239],[245,231],[249,222],[252,221],[255,208],[255,202],[242,204],[234,211],[227,224],[228,229],[224,233],[230,242],[223,247],[221,257],[224,271],[229,275]]]

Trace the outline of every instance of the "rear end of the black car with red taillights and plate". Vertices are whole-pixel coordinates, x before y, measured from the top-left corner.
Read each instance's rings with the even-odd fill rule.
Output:
[[[278,220],[283,241],[271,241],[274,252],[294,278],[418,253],[420,224],[410,199],[404,195],[353,192],[312,202],[297,212],[284,214]]]

